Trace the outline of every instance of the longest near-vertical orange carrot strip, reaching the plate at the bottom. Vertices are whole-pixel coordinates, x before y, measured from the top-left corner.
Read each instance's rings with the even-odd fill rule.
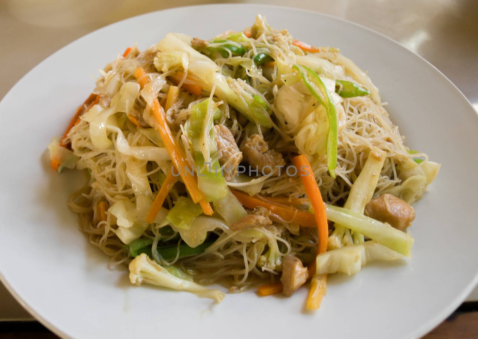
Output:
[[[317,222],[317,232],[319,236],[317,244],[317,254],[327,251],[328,239],[328,223],[326,216],[326,208],[322,195],[320,194],[319,186],[315,180],[314,172],[309,163],[307,155],[301,154],[292,158],[292,163],[296,168],[300,168],[299,177],[304,185],[305,194],[309,197],[312,208],[314,209],[315,220]],[[313,276],[316,271],[315,260],[313,260],[309,267],[309,276]],[[327,275],[323,274],[320,277],[314,277],[310,285],[309,295],[307,297],[307,308],[317,309],[320,306],[322,297],[326,291]],[[310,306],[310,307],[309,307]]]

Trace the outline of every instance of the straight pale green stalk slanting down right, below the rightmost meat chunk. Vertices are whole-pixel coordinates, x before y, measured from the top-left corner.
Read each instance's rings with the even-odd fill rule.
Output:
[[[350,230],[387,246],[395,252],[408,257],[412,255],[413,237],[405,232],[394,229],[389,224],[353,212],[346,208],[326,204],[327,219],[343,225]]]

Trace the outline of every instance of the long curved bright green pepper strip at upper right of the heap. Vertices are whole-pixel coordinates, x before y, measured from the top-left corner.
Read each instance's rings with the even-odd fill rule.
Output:
[[[337,142],[338,142],[338,131],[337,131],[337,114],[335,111],[335,105],[332,102],[332,98],[327,91],[322,79],[310,68],[301,65],[294,65],[302,81],[304,81],[305,87],[309,92],[317,99],[317,101],[326,108],[327,118],[329,124],[329,130],[327,133],[327,169],[331,177],[335,178],[335,169],[337,168]],[[320,94],[316,92],[315,88],[321,92]]]

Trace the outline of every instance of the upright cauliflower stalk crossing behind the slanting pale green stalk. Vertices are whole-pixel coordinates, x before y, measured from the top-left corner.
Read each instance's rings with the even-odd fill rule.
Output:
[[[380,171],[385,162],[386,153],[378,149],[372,148],[369,153],[369,157],[365,162],[362,171],[355,180],[354,184],[350,188],[347,201],[344,204],[344,208],[353,212],[363,214],[365,205],[372,199],[373,192],[377,186],[377,182],[380,178]],[[335,249],[342,247],[345,243],[349,242],[349,239],[344,239],[346,233],[345,227],[336,224],[334,232],[328,239],[328,247]],[[353,234],[354,243],[361,243],[364,241],[363,235],[355,232]],[[346,238],[349,238],[348,235]]]

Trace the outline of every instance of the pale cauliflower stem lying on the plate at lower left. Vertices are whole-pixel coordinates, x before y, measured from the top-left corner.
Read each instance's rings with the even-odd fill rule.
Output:
[[[144,253],[134,258],[129,265],[130,282],[137,286],[145,283],[167,287],[178,291],[194,293],[201,298],[211,298],[218,303],[224,299],[224,293],[198,285],[190,280],[181,279],[169,273],[162,266],[153,262]]]

